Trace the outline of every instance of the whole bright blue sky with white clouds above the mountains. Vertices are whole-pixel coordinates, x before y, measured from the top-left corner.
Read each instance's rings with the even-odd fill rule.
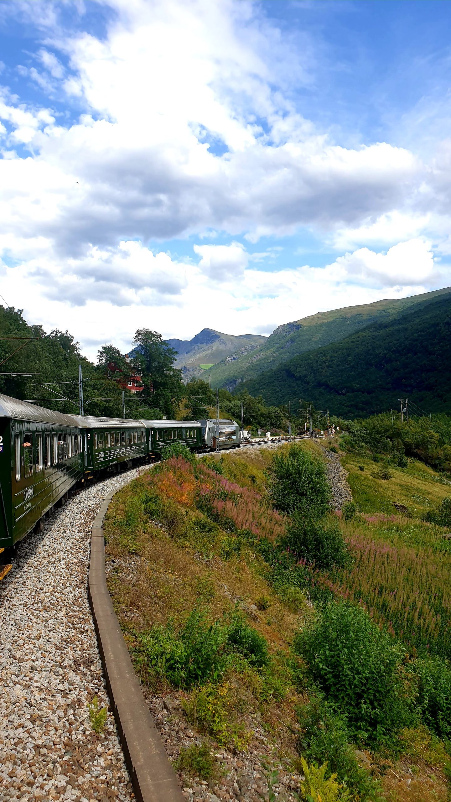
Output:
[[[92,355],[451,285],[450,18],[2,2],[0,293]]]

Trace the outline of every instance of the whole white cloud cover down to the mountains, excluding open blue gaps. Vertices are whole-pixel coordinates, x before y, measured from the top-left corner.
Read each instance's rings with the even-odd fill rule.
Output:
[[[22,75],[48,102],[0,90],[2,292],[31,320],[89,336],[89,347],[114,334],[128,349],[138,326],[269,334],[439,280],[425,231],[438,226],[451,251],[445,146],[425,165],[406,148],[345,148],[318,130],[291,99],[311,84],[314,43],[292,47],[258,4],[98,5],[108,12],[101,36],[83,30],[81,2],[63,3],[78,7],[76,30],[54,2],[0,10],[45,30]],[[56,92],[71,115],[52,108]],[[274,269],[282,257],[274,263],[270,243],[250,253],[250,242],[299,227],[342,255]],[[189,236],[189,257],[149,247]]]

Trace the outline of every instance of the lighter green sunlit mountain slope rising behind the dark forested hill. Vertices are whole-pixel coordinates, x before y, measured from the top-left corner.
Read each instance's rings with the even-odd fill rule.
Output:
[[[412,298],[383,300],[361,306],[319,312],[301,320],[278,326],[266,342],[250,354],[234,354],[233,359],[222,359],[209,373],[214,387],[234,385],[236,379],[255,379],[263,371],[274,370],[298,354],[339,342],[372,322],[387,318],[396,311],[412,304],[424,302],[438,294],[449,292],[449,288],[432,293],[415,295]]]

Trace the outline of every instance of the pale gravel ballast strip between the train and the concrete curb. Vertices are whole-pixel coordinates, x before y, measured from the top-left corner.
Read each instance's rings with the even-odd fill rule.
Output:
[[[139,469],[77,493],[18,546],[0,586],[0,800],[132,800],[87,599],[91,523]]]

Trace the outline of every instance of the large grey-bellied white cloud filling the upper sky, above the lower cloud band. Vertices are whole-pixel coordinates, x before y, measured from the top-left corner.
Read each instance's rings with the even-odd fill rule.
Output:
[[[104,5],[115,11],[105,38],[55,32],[68,74],[47,45],[37,54],[46,72],[32,75],[76,97],[84,112],[77,124],[64,127],[48,109],[12,100],[0,107],[10,144],[33,153],[0,163],[0,188],[14,183],[24,200],[23,220],[6,210],[5,228],[39,231],[71,255],[131,236],[211,228],[256,241],[299,225],[358,226],[402,205],[420,180],[424,168],[405,149],[342,148],[299,115],[281,87],[288,73],[308,83],[307,66],[258,6]],[[36,185],[37,159],[52,188]]]

